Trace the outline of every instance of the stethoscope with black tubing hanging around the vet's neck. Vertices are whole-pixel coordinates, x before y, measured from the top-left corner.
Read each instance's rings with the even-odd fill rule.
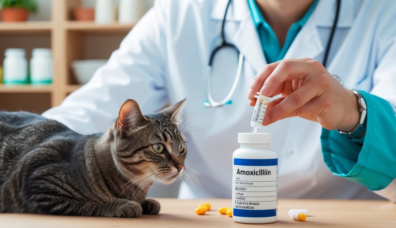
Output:
[[[225,8],[225,13],[224,13],[224,17],[223,17],[223,24],[221,25],[221,44],[219,46],[217,46],[211,52],[210,58],[209,58],[209,64],[208,64],[208,67],[206,70],[206,79],[205,79],[206,80],[206,83],[205,83],[206,84],[206,87],[205,87],[206,100],[204,101],[205,107],[219,107],[219,106],[223,106],[223,105],[232,104],[231,97],[232,97],[232,95],[234,95],[236,86],[238,86],[239,80],[241,78],[244,55],[242,55],[242,53],[240,53],[240,51],[234,44],[228,43],[225,40],[225,36],[224,36],[225,18],[227,16],[227,11],[228,11],[228,7],[230,6],[230,3],[231,3],[231,0],[229,0],[227,3],[227,7]],[[326,64],[327,64],[327,58],[329,57],[331,42],[333,42],[335,28],[337,27],[338,16],[339,16],[339,12],[340,12],[340,5],[341,5],[341,0],[337,0],[337,9],[335,11],[333,27],[331,28],[329,41],[327,42],[326,51],[325,51],[323,63],[322,63],[324,67],[326,67]],[[238,54],[238,68],[236,69],[236,76],[234,79],[234,83],[232,84],[232,87],[231,87],[228,95],[222,101],[214,101],[212,98],[211,85],[210,85],[211,76],[212,76],[212,63],[213,63],[213,58],[214,58],[216,52],[219,51],[223,47],[231,47],[232,49],[234,49],[236,51],[236,53]]]

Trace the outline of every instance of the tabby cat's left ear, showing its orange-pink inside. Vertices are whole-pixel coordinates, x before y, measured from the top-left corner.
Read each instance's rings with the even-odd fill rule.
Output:
[[[118,112],[117,127],[119,131],[134,129],[145,124],[147,118],[143,116],[139,105],[135,100],[128,100],[121,106]]]

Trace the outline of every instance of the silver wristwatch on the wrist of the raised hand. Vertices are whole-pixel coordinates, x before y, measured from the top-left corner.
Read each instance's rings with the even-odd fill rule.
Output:
[[[358,97],[358,106],[359,106],[359,112],[360,112],[360,120],[359,124],[353,129],[351,132],[347,131],[340,131],[337,129],[338,133],[340,135],[343,135],[344,137],[347,137],[348,139],[358,139],[360,135],[366,131],[366,125],[367,125],[367,105],[366,101],[362,97],[362,94],[360,94],[358,91],[354,89],[348,89],[352,91],[356,97]]]

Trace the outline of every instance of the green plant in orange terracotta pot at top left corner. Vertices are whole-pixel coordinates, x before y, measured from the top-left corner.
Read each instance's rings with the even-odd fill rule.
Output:
[[[36,0],[0,0],[2,21],[26,21],[37,10]]]

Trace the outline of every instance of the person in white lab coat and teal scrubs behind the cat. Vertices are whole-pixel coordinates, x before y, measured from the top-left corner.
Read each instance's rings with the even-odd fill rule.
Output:
[[[261,91],[275,96],[259,132],[272,133],[280,198],[396,201],[396,2],[228,2],[156,1],[90,82],[43,115],[90,134],[127,99],[148,113],[187,97],[186,167],[202,188],[183,181],[179,198],[230,198],[232,151],[253,131]]]

